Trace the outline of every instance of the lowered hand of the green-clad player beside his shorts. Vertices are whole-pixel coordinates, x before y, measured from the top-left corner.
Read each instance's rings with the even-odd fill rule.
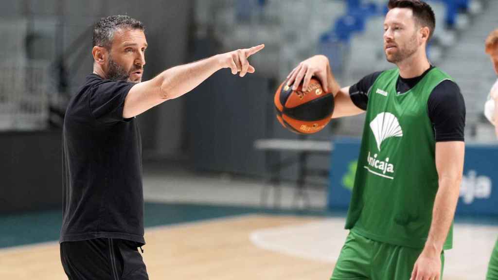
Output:
[[[441,256],[422,252],[418,256],[410,280],[439,280],[441,277]]]

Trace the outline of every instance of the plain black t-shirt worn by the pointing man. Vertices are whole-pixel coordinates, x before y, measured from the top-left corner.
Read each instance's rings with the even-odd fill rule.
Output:
[[[119,238],[145,244],[140,133],[135,118],[123,118],[133,85],[91,74],[68,105],[60,242]]]

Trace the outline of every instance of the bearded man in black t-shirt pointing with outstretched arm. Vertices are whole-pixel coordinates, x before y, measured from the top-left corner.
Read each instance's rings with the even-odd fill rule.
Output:
[[[143,239],[141,143],[135,116],[191,91],[216,71],[254,73],[248,57],[264,45],[176,66],[141,82],[144,26],[117,15],[93,30],[93,73],[64,120],[62,266],[69,279],[148,279]]]

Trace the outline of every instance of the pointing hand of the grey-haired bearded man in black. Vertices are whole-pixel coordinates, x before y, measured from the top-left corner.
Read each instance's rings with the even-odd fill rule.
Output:
[[[244,77],[247,73],[254,73],[256,69],[249,64],[248,58],[263,48],[264,44],[260,44],[248,49],[238,49],[220,54],[221,68],[230,68],[234,75],[240,72],[239,76],[241,77]]]

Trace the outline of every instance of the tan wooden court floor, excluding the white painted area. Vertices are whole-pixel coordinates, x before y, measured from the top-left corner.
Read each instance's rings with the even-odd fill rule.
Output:
[[[318,218],[244,215],[149,228],[143,258],[150,279],[329,279],[330,263],[257,248],[250,233]],[[0,250],[0,279],[67,279],[56,242]]]

